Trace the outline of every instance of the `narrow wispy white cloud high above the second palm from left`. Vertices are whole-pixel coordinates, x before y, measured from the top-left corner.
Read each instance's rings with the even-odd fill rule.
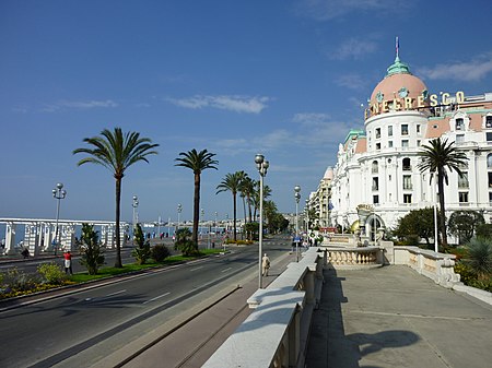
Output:
[[[270,97],[248,97],[248,96],[202,96],[196,95],[189,98],[166,98],[167,102],[191,109],[201,109],[204,107],[218,108],[235,112],[259,114],[267,108]]]

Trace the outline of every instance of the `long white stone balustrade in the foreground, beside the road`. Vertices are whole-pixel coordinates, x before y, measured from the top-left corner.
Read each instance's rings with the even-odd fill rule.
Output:
[[[304,367],[311,318],[318,304],[325,259],[318,248],[248,299],[254,311],[202,366]]]

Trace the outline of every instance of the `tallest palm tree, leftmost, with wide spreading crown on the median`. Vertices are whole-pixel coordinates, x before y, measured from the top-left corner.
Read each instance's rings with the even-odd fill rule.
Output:
[[[138,132],[124,133],[121,128],[115,128],[114,131],[107,129],[101,132],[101,136],[84,138],[83,142],[91,147],[77,149],[73,154],[86,153],[89,156],[77,163],[81,166],[86,163],[97,164],[106,167],[113,174],[116,180],[116,260],[115,268],[122,268],[121,245],[119,234],[119,217],[121,205],[121,179],[125,170],[138,163],[147,159],[148,155],[157,154],[153,149],[159,144],[152,144],[149,138],[140,138]]]

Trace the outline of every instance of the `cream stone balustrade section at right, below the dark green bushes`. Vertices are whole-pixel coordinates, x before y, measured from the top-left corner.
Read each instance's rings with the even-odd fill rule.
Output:
[[[395,247],[393,257],[394,264],[407,264],[444,287],[452,288],[460,283],[460,275],[454,269],[455,254],[436,253],[418,247]]]

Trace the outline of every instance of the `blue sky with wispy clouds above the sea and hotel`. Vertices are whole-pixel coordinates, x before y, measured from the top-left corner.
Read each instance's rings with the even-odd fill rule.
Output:
[[[157,143],[128,168],[121,218],[192,218],[180,152],[207,149],[204,218],[232,218],[229,173],[265,183],[282,213],[315,191],[399,56],[431,93],[492,92],[490,0],[0,1],[0,217],[115,218],[115,180],[77,166],[84,138],[120,127]],[[239,205],[238,209],[242,209]],[[242,217],[242,211],[238,211]]]

